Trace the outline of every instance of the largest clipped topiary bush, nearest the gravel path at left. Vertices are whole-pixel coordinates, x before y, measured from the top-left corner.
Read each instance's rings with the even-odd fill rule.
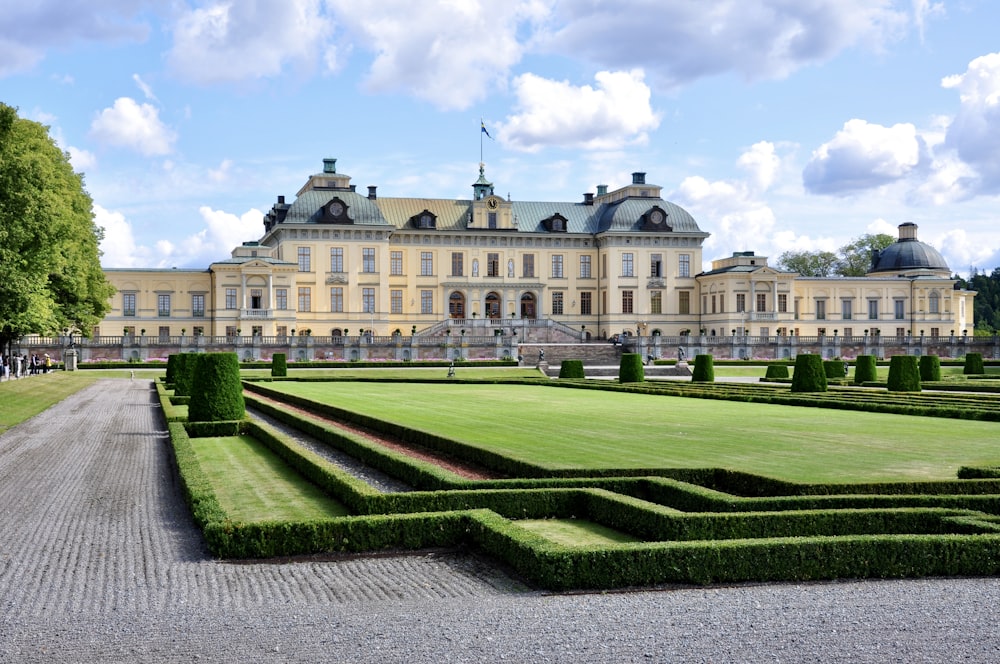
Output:
[[[236,353],[202,353],[196,357],[188,421],[243,419],[246,408]]]

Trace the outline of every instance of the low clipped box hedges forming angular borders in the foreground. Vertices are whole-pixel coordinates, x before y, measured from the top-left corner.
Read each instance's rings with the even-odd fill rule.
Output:
[[[157,390],[166,401],[167,391]],[[260,403],[308,433],[327,431],[329,441],[359,458],[388,459],[384,472],[434,475],[427,462],[310,423],[280,403]],[[1000,479],[796,485],[722,469],[650,469],[475,482],[442,471],[439,489],[382,494],[267,425],[173,422],[169,430],[185,500],[209,549],[224,558],[472,546],[552,590],[1000,574]],[[231,521],[190,437],[236,432],[264,442],[356,514]],[[451,452],[461,447],[438,444]],[[518,518],[587,519],[643,541],[565,547],[520,527]]]

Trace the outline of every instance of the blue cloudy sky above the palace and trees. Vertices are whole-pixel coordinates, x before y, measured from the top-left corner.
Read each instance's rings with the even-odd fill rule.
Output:
[[[995,0],[0,0],[0,101],[85,175],[106,267],[205,267],[324,157],[359,191],[582,199],[633,171],[706,264],[919,225],[1000,266]]]

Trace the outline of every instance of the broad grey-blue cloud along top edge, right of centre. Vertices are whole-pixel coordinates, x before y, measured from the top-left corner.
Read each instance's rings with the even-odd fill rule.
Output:
[[[777,79],[857,45],[880,50],[904,34],[909,8],[894,0],[563,2],[540,48],[600,67],[647,67],[666,86],[736,71]],[[930,12],[920,14],[926,20]],[[623,38],[623,36],[626,36]],[[655,64],[651,64],[655,63]]]

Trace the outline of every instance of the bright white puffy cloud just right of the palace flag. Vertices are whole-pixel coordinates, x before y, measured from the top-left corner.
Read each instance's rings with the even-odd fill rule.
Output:
[[[660,124],[639,70],[598,72],[597,87],[576,87],[522,74],[514,80],[517,114],[498,124],[507,147],[536,152],[543,146],[588,150],[641,144]]]

